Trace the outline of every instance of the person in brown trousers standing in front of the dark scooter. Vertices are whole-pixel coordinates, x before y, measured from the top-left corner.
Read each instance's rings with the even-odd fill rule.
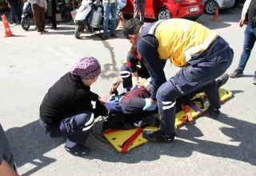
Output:
[[[47,33],[45,30],[46,26],[46,11],[47,2],[46,0],[27,0],[32,4],[32,10],[34,14],[34,22],[38,27],[38,34]]]

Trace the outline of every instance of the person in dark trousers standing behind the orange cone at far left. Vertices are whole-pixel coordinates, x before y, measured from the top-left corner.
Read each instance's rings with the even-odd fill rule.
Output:
[[[8,4],[8,6],[10,8],[10,18],[11,18],[12,23],[17,25],[15,16],[17,16],[17,18],[18,18],[18,22],[21,23],[22,22],[22,9],[21,9],[19,0],[6,0],[6,3]]]

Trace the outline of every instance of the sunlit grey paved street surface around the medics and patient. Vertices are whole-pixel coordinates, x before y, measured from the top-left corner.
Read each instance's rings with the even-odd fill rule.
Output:
[[[238,27],[240,14],[228,10],[220,15],[221,22],[211,22],[212,16],[207,15],[198,20],[230,42],[235,54],[228,72],[238,65],[242,52],[245,28]],[[84,56],[94,56],[101,62],[103,73],[93,90],[107,94],[111,79],[118,76],[121,60],[130,49],[129,42],[122,38],[121,31],[118,39],[105,42],[96,35],[77,40],[74,26],[68,25],[42,36],[11,26],[17,36],[2,38],[0,27],[0,122],[10,138],[20,174],[256,175],[256,87],[251,83],[255,52],[246,67],[246,77],[230,79],[226,84],[234,97],[222,106],[218,120],[205,114],[196,125],[183,126],[174,144],[147,143],[128,154],[119,154],[90,136],[90,156],[75,158],[64,150],[65,140],[46,137],[38,125],[42,98]],[[177,70],[167,65],[167,77]]]

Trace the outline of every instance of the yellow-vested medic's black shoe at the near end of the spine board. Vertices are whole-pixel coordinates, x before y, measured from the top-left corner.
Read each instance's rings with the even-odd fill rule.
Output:
[[[174,142],[175,133],[172,136],[168,136],[162,134],[160,130],[143,130],[142,136],[149,141],[171,143]]]

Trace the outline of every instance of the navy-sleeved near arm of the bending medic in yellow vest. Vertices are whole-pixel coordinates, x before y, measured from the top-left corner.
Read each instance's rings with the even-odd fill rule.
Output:
[[[151,93],[151,103],[156,104],[156,94],[158,88],[166,82],[166,75],[163,71],[161,60],[158,54],[158,40],[154,36],[147,35],[138,40],[138,53],[142,56],[142,62],[149,71],[153,90]]]

